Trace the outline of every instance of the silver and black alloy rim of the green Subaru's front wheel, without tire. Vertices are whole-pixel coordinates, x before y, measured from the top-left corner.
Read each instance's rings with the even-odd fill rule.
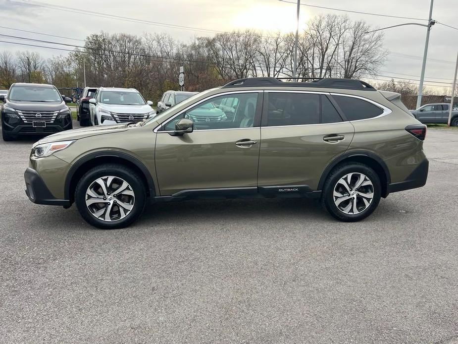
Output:
[[[89,212],[102,221],[118,221],[134,208],[132,187],[122,178],[112,175],[93,181],[86,190],[86,206]]]

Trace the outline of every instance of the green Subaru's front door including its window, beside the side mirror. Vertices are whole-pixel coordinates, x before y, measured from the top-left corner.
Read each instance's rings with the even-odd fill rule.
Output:
[[[226,98],[237,98],[233,116],[220,108]],[[222,195],[234,188],[255,192],[261,107],[262,92],[232,92],[201,101],[165,122],[155,144],[160,195]],[[194,131],[171,136],[181,118],[193,120]]]

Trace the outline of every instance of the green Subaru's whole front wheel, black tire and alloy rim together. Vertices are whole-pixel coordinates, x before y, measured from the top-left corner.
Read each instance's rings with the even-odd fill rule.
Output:
[[[145,185],[131,169],[103,164],[86,172],[75,190],[81,216],[101,229],[127,227],[145,208]]]

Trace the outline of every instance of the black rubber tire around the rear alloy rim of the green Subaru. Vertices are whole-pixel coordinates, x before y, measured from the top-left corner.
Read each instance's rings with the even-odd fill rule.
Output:
[[[342,177],[348,175],[349,173],[362,173],[372,183],[372,186],[367,186],[371,188],[373,191],[373,197],[369,205],[366,206],[365,209],[361,210],[359,213],[356,214],[345,213],[344,211],[340,210],[334,202],[334,188],[337,187],[338,181],[341,180]],[[355,193],[355,191],[357,190],[352,190],[351,192]],[[348,195],[349,196],[346,197],[350,197],[350,193]],[[363,202],[364,197],[358,196],[357,194],[354,197],[354,200],[356,200],[357,202],[356,204],[359,205],[359,207],[362,209],[365,206]],[[380,178],[374,170],[360,163],[344,163],[336,167],[327,177],[323,187],[321,203],[323,207],[329,212],[329,214],[331,214],[334,218],[344,222],[355,222],[362,220],[368,217],[370,214],[372,214],[372,212],[377,208],[378,203],[380,202],[380,197]],[[350,199],[348,202],[351,203],[353,201],[352,199]],[[341,204],[345,205],[346,203],[342,202]],[[358,209],[356,208],[356,210]]]

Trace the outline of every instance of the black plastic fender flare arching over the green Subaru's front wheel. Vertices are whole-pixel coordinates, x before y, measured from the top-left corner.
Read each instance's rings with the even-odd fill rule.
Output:
[[[150,171],[148,171],[146,166],[140,160],[138,160],[137,158],[135,158],[135,157],[133,157],[133,156],[131,156],[129,154],[123,153],[123,152],[118,152],[118,151],[99,151],[99,152],[94,152],[94,153],[90,153],[88,155],[85,155],[84,157],[78,159],[72,165],[72,167],[68,171],[67,176],[65,178],[65,191],[64,191],[65,199],[71,199],[71,197],[70,197],[71,196],[70,195],[70,186],[71,186],[71,182],[72,182],[73,176],[78,171],[78,169],[82,165],[84,165],[85,163],[87,163],[87,162],[89,162],[91,160],[98,159],[98,158],[103,158],[103,157],[120,158],[120,159],[127,160],[131,164],[135,165],[143,173],[143,175],[144,175],[144,177],[145,177],[145,179],[146,179],[146,181],[148,183],[148,188],[150,189],[150,195],[151,196],[155,195],[155,193],[156,193],[155,190],[156,189],[154,187],[153,177],[151,176]]]

